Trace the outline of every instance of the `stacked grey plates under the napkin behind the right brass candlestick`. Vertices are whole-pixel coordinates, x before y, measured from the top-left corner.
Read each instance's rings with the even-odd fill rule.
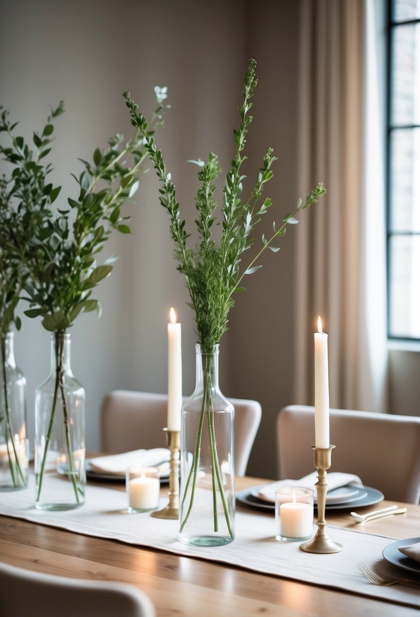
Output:
[[[274,511],[274,503],[260,492],[265,485],[244,489],[236,495],[236,501],[258,510]],[[316,497],[316,493],[315,493]],[[345,508],[372,505],[384,499],[384,495],[370,486],[342,486],[327,492],[326,510],[343,510]],[[317,507],[315,503],[315,507]]]

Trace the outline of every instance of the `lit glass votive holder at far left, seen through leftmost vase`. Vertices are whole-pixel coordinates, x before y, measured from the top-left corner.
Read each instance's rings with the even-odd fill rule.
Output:
[[[29,439],[15,438],[14,442],[0,443],[0,491],[25,489],[28,467]]]

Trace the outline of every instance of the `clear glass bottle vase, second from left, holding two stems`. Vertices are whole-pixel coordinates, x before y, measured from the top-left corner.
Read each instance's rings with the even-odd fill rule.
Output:
[[[70,334],[51,335],[51,372],[35,391],[35,505],[70,510],[85,502],[85,395],[71,372]]]

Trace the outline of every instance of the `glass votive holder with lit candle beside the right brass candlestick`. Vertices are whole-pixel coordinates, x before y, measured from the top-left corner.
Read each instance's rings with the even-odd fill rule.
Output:
[[[276,491],[276,539],[299,542],[312,536],[313,491],[285,487]]]

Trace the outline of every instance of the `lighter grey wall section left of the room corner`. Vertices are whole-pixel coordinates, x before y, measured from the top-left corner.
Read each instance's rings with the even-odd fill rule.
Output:
[[[121,94],[129,89],[142,109],[153,109],[153,87],[169,88],[171,112],[161,133],[166,164],[177,183],[185,218],[193,220],[196,168],[187,159],[220,152],[232,156],[238,94],[246,70],[243,3],[2,2],[0,22],[1,104],[19,130],[31,136],[64,99],[57,119],[54,180],[63,185],[59,205],[75,196],[70,172],[116,132],[132,126]],[[204,19],[205,17],[205,19]],[[158,203],[153,172],[142,181],[137,204],[128,204],[132,236],[115,236],[107,254],[119,255],[115,271],[100,284],[98,320],[81,315],[72,329],[73,371],[87,392],[87,445],[99,446],[98,410],[116,387],[164,392],[166,322],[176,307],[183,325],[184,391],[192,391],[195,354],[192,311],[176,272],[169,220]],[[17,336],[18,363],[28,379],[28,416],[33,434],[33,392],[49,371],[49,334],[25,318]]]

